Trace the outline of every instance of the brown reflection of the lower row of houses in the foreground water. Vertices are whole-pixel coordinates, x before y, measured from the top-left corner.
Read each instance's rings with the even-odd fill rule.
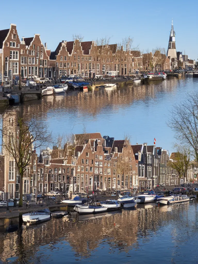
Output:
[[[154,236],[155,232],[170,223],[177,233],[181,222],[185,225],[188,223],[188,206],[189,204],[158,208],[155,204],[138,205],[134,210],[96,216],[71,213],[69,221],[67,218],[51,219],[39,225],[22,226],[13,233],[0,234],[0,259],[5,262],[17,257],[17,261],[26,262],[34,259],[40,245],[50,244],[53,252],[56,243],[61,241],[69,243],[74,255],[79,258],[88,258],[90,252],[102,241],[109,244],[110,251],[119,248],[120,251],[128,252],[132,248],[138,248],[139,239],[149,241],[152,239],[151,233]]]

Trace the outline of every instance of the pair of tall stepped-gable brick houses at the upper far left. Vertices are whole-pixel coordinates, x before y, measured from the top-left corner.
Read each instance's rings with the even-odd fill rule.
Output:
[[[50,53],[39,34],[20,41],[16,25],[10,24],[10,29],[0,30],[0,80],[17,85],[20,78],[53,78],[55,62],[50,61]]]

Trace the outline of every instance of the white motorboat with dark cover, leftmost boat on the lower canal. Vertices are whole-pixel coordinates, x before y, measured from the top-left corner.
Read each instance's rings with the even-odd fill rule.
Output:
[[[23,214],[22,219],[26,223],[44,222],[51,219],[51,213],[49,209],[39,210],[37,212]]]

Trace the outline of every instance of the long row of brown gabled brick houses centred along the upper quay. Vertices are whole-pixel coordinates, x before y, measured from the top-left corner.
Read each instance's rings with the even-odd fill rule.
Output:
[[[134,57],[136,55],[136,57]],[[56,60],[56,76],[71,74],[94,78],[96,75],[129,75],[142,72],[140,52],[117,50],[117,44],[97,46],[94,41],[62,41],[50,59]]]

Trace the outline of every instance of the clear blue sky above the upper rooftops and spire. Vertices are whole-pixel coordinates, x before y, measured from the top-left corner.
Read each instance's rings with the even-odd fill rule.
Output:
[[[10,9],[14,6],[14,9]],[[167,50],[171,20],[176,32],[177,51],[185,50],[197,60],[198,1],[3,1],[0,29],[17,25],[20,36],[41,35],[43,43],[54,51],[62,40],[82,34],[84,41],[112,36],[110,44],[125,36],[134,37],[141,51],[161,46]]]

